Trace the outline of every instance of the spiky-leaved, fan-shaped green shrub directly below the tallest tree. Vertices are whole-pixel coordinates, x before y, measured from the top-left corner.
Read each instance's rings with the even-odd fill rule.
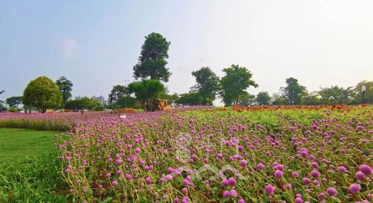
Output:
[[[135,94],[145,111],[155,111],[154,101],[164,95],[166,88],[159,80],[142,79],[128,85],[130,91]]]

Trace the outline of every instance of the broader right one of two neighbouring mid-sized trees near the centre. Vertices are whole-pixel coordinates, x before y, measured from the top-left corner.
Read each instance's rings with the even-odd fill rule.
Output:
[[[240,96],[247,94],[246,89],[249,86],[258,87],[258,85],[251,80],[252,73],[246,67],[232,65],[223,69],[225,76],[221,78],[220,95],[223,98],[225,106],[232,104],[238,105]]]

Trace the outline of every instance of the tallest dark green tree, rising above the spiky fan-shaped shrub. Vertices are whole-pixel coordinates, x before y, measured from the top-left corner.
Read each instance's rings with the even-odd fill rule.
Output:
[[[141,53],[138,62],[133,66],[134,78],[157,79],[168,82],[171,75],[166,68],[166,58],[168,58],[167,42],[160,33],[150,33],[145,37],[144,45],[141,46]]]

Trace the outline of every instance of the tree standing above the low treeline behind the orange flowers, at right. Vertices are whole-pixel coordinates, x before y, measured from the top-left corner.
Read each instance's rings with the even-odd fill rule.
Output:
[[[306,92],[306,87],[300,85],[295,78],[285,80],[286,87],[281,87],[282,95],[286,98],[288,105],[300,105],[302,95]]]

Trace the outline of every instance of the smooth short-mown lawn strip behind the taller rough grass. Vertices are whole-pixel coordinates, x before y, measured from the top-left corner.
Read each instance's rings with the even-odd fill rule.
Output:
[[[54,150],[55,134],[61,132],[0,128],[0,162],[18,161]]]

